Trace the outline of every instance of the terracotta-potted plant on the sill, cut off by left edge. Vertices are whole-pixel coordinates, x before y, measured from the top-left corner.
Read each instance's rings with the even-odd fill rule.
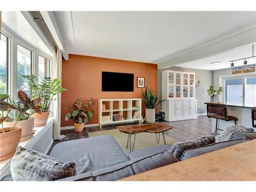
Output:
[[[22,135],[22,128],[16,126],[16,123],[12,127],[3,127],[3,123],[11,119],[8,116],[10,110],[18,110],[11,103],[5,101],[8,97],[6,94],[0,95],[0,124],[2,126],[0,129],[0,161],[14,155]]]

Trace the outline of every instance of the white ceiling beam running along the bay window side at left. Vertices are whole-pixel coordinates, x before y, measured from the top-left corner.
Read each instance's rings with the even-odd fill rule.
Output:
[[[51,32],[52,37],[54,38],[61,54],[63,55],[65,60],[69,60],[69,53],[63,41],[63,37],[61,36],[59,26],[57,24],[55,15],[52,11],[40,11],[42,18]]]

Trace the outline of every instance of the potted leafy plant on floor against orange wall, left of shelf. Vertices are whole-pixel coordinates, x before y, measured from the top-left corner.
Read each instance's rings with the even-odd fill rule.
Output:
[[[87,100],[87,104],[82,105],[81,99],[76,99],[72,106],[69,106],[67,117],[74,120],[75,132],[81,132],[83,126],[88,122],[88,119],[93,118],[94,111],[91,109],[93,99]]]

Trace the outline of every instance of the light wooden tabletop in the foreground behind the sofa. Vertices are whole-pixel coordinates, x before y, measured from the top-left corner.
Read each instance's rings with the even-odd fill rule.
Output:
[[[256,181],[256,139],[120,181]]]

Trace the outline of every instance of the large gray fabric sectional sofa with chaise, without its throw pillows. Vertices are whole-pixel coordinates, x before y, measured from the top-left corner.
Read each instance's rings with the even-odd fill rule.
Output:
[[[255,132],[234,133],[229,141],[186,150],[180,160],[210,153],[255,138]],[[127,157],[114,137],[105,135],[58,143],[53,147],[50,156],[76,164],[76,176],[59,181],[115,181],[178,162],[168,151],[170,146],[159,145],[144,148],[130,153]],[[10,177],[9,175],[6,178]]]

